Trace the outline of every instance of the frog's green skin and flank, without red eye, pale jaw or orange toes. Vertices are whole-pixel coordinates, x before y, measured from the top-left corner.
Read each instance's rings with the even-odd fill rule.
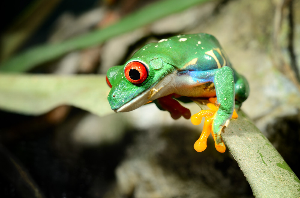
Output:
[[[133,84],[124,76],[125,66],[133,60],[143,62],[149,69],[149,76],[141,84]],[[111,108],[116,112],[122,106],[132,106],[129,110],[138,108],[142,104],[134,105],[132,101],[171,75],[172,80],[162,85],[168,88],[159,91],[160,97],[171,94],[166,90],[173,87],[176,87],[174,93],[182,96],[217,96],[220,106],[214,115],[212,130],[216,143],[221,143],[221,130],[231,119],[235,103],[241,106],[247,99],[249,86],[247,80],[232,68],[219,42],[210,34],[179,35],[147,44],[125,65],[110,68],[107,78],[112,85],[108,95]],[[209,86],[211,82],[214,86]],[[153,99],[156,98],[148,101]]]

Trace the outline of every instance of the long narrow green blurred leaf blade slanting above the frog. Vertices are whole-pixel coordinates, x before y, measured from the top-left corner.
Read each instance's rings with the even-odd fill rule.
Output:
[[[40,45],[24,51],[23,53],[2,62],[0,64],[0,71],[27,71],[38,64],[58,58],[69,51],[99,45],[114,36],[133,31],[136,28],[152,23],[164,16],[177,13],[193,5],[204,3],[206,1],[209,0],[157,1],[124,17],[119,22],[107,28],[95,30],[85,35],[69,39],[65,42]]]

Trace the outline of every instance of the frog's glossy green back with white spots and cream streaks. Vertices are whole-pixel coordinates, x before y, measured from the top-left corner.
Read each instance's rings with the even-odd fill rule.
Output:
[[[205,71],[231,64],[217,39],[206,33],[173,36],[145,45],[132,59],[161,58],[177,70]]]

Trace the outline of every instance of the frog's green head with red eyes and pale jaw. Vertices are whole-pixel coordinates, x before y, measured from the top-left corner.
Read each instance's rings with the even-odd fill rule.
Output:
[[[157,56],[147,58],[137,54],[135,57],[107,71],[107,83],[111,87],[107,99],[115,112],[137,109],[171,92],[172,78],[165,77],[174,71],[172,65]]]

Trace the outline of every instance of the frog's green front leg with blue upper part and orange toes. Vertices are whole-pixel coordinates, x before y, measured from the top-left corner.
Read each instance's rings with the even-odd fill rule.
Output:
[[[234,80],[231,68],[224,66],[222,68],[209,71],[192,71],[192,76],[198,78],[199,82],[213,82],[217,101],[208,105],[211,110],[202,110],[192,116],[191,121],[197,125],[201,123],[202,117],[205,117],[205,124],[202,134],[194,144],[196,151],[201,152],[206,148],[206,139],[211,132],[215,147],[219,152],[225,152],[225,145],[221,138],[221,132],[224,126],[228,126],[234,111]],[[201,79],[201,80],[200,80]],[[213,101],[211,101],[213,102]]]

